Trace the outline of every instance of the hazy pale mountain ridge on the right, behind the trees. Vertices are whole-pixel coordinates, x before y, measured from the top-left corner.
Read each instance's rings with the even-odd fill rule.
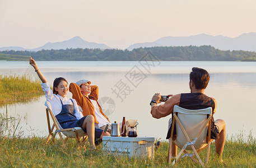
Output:
[[[137,43],[129,46],[127,49],[144,48],[152,46],[202,46],[211,45],[220,50],[245,50],[256,51],[256,32],[242,34],[236,38],[228,38],[222,35],[211,36],[199,34],[194,36],[173,37],[168,36],[160,38],[151,43]]]

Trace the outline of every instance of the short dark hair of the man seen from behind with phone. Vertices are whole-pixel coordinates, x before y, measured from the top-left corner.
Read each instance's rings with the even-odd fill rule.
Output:
[[[202,68],[193,67],[189,74],[189,80],[192,80],[196,89],[204,89],[210,80],[210,74]]]

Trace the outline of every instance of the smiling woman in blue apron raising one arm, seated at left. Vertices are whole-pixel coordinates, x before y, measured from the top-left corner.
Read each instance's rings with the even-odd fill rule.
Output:
[[[83,116],[78,110],[75,99],[67,99],[68,82],[64,78],[55,78],[53,82],[54,91],[52,91],[49,87],[49,83],[40,72],[35,60],[30,58],[29,63],[35,68],[35,72],[42,81],[41,86],[45,92],[46,100],[50,102],[53,114],[56,116],[62,128],[81,127],[83,131],[87,133],[91,150],[95,149],[94,139],[109,136],[109,133],[104,133],[103,129],[95,128],[94,116]]]

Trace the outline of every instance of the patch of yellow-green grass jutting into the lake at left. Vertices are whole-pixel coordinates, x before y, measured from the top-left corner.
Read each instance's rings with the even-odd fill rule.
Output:
[[[43,95],[39,81],[23,76],[0,76],[0,106],[27,102]]]

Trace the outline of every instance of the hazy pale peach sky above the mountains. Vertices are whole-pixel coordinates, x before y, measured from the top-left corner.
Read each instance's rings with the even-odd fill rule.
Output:
[[[0,47],[37,48],[80,36],[127,48],[165,36],[256,32],[255,0],[0,0]]]

